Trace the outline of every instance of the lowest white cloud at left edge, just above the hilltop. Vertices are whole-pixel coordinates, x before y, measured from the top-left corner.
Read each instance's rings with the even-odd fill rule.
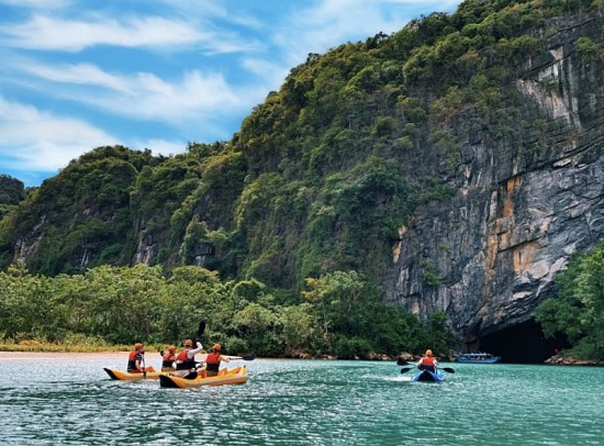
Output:
[[[90,124],[55,116],[0,97],[0,157],[4,167],[53,171],[90,149],[116,140]]]

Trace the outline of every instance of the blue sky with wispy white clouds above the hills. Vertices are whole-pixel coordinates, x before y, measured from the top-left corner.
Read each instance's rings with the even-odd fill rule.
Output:
[[[457,0],[0,0],[0,175],[40,186],[121,144],[230,141],[309,53]]]

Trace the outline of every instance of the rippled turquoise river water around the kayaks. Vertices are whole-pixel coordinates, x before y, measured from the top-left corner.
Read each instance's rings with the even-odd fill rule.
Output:
[[[604,445],[604,368],[446,364],[435,384],[394,363],[256,359],[246,384],[180,390],[110,380],[123,356],[0,359],[2,443]]]

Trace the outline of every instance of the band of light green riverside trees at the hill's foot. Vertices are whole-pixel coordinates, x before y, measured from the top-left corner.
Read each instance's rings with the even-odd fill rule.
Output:
[[[18,265],[0,272],[0,296],[2,341],[179,345],[204,320],[202,341],[225,344],[234,354],[366,358],[425,345],[447,353],[443,324],[424,326],[404,310],[385,306],[355,271],[312,279],[304,296],[279,304],[257,280],[223,282],[199,267],[176,268],[169,278],[160,267],[144,265],[51,278]]]

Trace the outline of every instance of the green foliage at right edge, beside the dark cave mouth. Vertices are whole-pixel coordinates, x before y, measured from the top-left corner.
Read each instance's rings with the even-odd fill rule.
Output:
[[[604,243],[591,253],[577,253],[556,278],[557,299],[539,303],[536,320],[544,333],[568,336],[570,355],[604,360]]]

